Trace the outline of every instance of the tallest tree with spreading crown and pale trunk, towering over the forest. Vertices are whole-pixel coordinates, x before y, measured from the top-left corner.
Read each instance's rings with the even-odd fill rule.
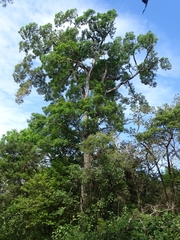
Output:
[[[171,65],[167,58],[157,56],[157,38],[151,32],[115,37],[116,17],[115,10],[96,13],[90,9],[78,16],[71,9],[55,15],[55,27],[50,23],[22,27],[20,51],[25,57],[13,74],[20,86],[17,103],[36,88],[46,101],[60,104],[63,122],[73,114],[78,116],[78,126],[69,128],[80,130],[80,142],[98,131],[122,131],[122,104],[144,102],[135,92],[133,79],[139,76],[143,84],[154,87],[159,66],[166,70]],[[121,94],[123,86],[129,98]],[[89,153],[84,153],[83,162],[84,169],[91,167]],[[82,185],[83,205],[86,196]]]

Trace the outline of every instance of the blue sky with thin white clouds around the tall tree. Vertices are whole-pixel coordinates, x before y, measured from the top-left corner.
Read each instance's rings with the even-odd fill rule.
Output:
[[[146,96],[153,106],[171,103],[180,89],[180,1],[149,0],[145,13],[141,0],[14,0],[6,8],[0,6],[0,136],[7,131],[18,131],[27,127],[27,120],[33,112],[42,112],[43,96],[35,91],[25,98],[23,104],[15,102],[18,84],[13,80],[14,67],[23,59],[19,53],[18,34],[22,26],[30,22],[39,25],[53,23],[59,11],[77,8],[81,14],[88,9],[106,12],[115,9],[116,35],[124,36],[133,31],[136,35],[152,31],[158,37],[156,51],[160,57],[168,57],[172,70],[160,70],[157,75],[157,87],[150,88],[139,84],[135,87]]]

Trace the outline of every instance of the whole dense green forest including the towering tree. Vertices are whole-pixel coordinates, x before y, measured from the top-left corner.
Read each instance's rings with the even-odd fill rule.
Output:
[[[180,96],[150,106],[168,58],[151,32],[116,35],[117,12],[59,12],[19,30],[16,102],[43,113],[0,139],[0,239],[178,240]]]

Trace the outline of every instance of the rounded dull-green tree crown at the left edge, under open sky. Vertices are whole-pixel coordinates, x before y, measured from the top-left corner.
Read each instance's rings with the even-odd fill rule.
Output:
[[[30,130],[7,132],[0,141],[1,192],[17,196],[20,187],[45,164]]]

